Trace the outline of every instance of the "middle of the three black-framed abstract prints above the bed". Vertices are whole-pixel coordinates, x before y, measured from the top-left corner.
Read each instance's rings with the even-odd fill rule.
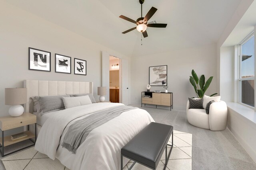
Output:
[[[55,72],[71,74],[71,57],[55,54]]]

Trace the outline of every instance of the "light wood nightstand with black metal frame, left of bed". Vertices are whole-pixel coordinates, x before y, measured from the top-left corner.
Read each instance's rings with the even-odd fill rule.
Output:
[[[31,124],[35,124],[35,134],[33,134],[29,131],[29,125],[31,125]],[[22,126],[28,126],[28,131],[24,131],[24,133],[28,134],[27,137],[18,139],[17,141],[12,141],[11,136],[4,137],[4,131],[14,129],[17,127],[22,127]],[[22,149],[32,147],[36,143],[36,115],[33,115],[31,113],[23,113],[21,116],[18,116],[18,117],[12,117],[12,116],[0,117],[0,130],[2,131],[2,138],[0,138],[0,144],[2,147],[2,150],[0,149],[0,152],[2,153],[2,157],[12,154],[14,152],[18,152]],[[33,137],[35,138],[34,141],[31,139]],[[12,145],[14,143],[18,143],[20,141],[27,140],[27,139],[32,141],[33,144],[28,147],[24,147],[22,149],[15,150],[14,152],[4,154],[4,147],[6,147],[8,145]]]

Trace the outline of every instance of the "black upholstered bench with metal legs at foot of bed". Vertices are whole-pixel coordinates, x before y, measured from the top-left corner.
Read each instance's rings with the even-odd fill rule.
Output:
[[[172,135],[172,145],[167,144]],[[167,156],[167,145],[171,150]],[[134,161],[129,170],[136,162],[155,170],[165,149],[165,166],[172,152],[173,127],[161,123],[151,122],[130,142],[121,149],[121,170],[123,169],[123,156]]]

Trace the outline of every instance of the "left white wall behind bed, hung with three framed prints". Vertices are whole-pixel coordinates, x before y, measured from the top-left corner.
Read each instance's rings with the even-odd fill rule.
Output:
[[[127,58],[72,31],[0,1],[0,116],[8,115],[4,88],[23,87],[23,80],[94,82],[101,86],[101,51]],[[51,72],[28,70],[28,47],[51,52]],[[72,57],[72,74],[55,73],[55,53]],[[87,75],[74,75],[74,58],[87,61]],[[130,66],[129,66],[130,68]],[[129,79],[130,80],[130,79]]]

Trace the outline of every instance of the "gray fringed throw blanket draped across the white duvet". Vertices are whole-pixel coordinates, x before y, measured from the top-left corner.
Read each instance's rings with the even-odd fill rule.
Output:
[[[93,113],[84,119],[74,122],[68,128],[61,146],[68,149],[70,152],[72,152],[72,154],[76,154],[78,147],[85,141],[86,137],[93,129],[121,115],[121,113],[124,111],[129,111],[136,108],[138,107],[111,107],[109,109]]]

